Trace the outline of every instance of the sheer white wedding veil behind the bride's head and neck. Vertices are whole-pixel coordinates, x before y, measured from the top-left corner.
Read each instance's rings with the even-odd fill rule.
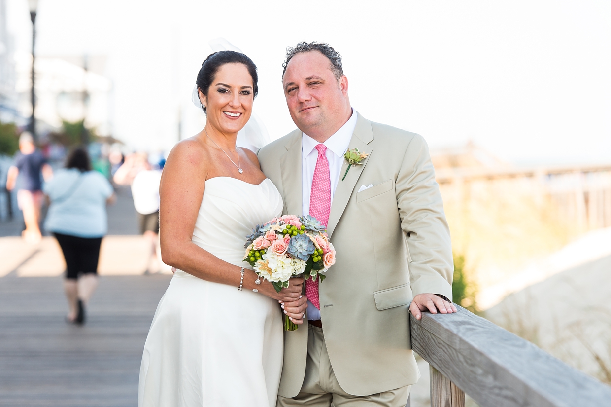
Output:
[[[210,48],[214,52],[218,51],[236,51],[242,52],[240,48],[234,47],[229,41],[224,38],[217,38],[209,42]],[[202,111],[202,103],[199,101],[197,95],[197,85],[193,88],[191,94],[191,100],[196,107]],[[236,140],[236,146],[246,147],[249,150],[257,152],[258,149],[268,144],[271,140],[269,139],[269,133],[263,124],[263,121],[252,112],[251,118],[246,123],[244,128],[238,132],[238,140]]]

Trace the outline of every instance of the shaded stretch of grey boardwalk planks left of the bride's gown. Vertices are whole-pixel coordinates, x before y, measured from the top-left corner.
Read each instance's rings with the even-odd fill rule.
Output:
[[[87,323],[62,277],[0,278],[0,406],[135,407],[142,348],[170,275],[101,276]]]

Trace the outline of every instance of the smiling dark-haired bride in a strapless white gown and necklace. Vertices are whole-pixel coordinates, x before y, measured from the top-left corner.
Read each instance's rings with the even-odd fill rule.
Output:
[[[139,407],[276,405],[283,357],[280,304],[301,324],[303,280],[276,293],[244,269],[246,235],[282,214],[257,156],[236,147],[257,95],[257,67],[213,53],[197,75],[207,123],[178,143],[161,178],[163,262],[178,270],[159,302],[142,355]]]

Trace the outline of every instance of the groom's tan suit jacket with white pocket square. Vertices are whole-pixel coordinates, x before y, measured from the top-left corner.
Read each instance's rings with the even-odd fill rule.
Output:
[[[284,214],[302,215],[301,130],[258,152],[263,173],[284,198]],[[422,136],[358,115],[349,148],[369,153],[344,162],[327,233],[337,262],[320,284],[324,339],[342,389],[369,395],[414,384],[409,304],[415,294],[452,298],[452,245],[433,164]],[[361,185],[374,186],[357,192]],[[279,395],[304,381],[307,327],[285,332]]]

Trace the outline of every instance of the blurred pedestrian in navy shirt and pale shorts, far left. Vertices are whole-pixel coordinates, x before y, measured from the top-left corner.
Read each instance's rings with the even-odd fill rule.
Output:
[[[47,181],[53,177],[53,170],[42,153],[36,149],[31,133],[23,132],[19,137],[19,152],[7,174],[6,189],[13,190],[19,177],[17,204],[23,211],[23,222],[26,224],[21,235],[29,243],[40,242],[42,238],[38,225],[43,202],[41,174]]]

